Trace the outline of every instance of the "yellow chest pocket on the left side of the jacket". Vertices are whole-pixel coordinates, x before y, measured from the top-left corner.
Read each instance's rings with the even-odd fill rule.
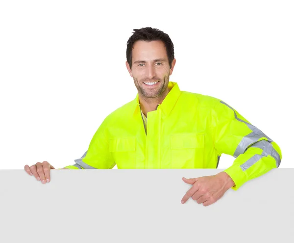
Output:
[[[136,137],[116,137],[110,139],[109,152],[112,153],[118,168],[136,168]]]

